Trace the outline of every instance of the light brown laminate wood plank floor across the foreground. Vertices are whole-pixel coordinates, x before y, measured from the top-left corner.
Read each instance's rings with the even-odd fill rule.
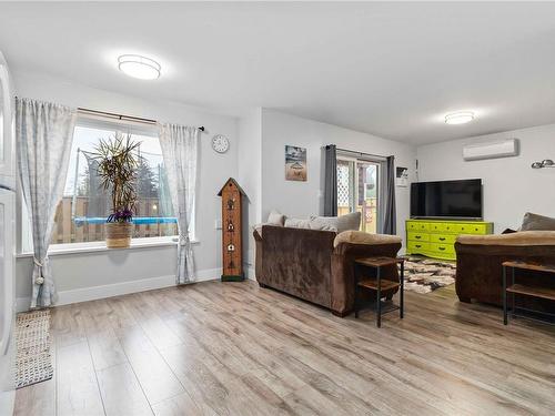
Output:
[[[555,329],[407,292],[406,315],[340,318],[253,282],[52,312],[56,374],[16,414],[553,415]]]

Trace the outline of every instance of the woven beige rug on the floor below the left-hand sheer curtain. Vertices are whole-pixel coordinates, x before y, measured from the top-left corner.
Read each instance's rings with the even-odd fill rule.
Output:
[[[16,388],[52,378],[54,372],[50,355],[50,311],[19,314],[16,343]]]

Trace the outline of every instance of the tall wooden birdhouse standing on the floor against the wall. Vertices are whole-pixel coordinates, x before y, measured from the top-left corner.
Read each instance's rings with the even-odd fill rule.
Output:
[[[238,282],[243,275],[243,200],[245,194],[233,177],[218,193],[222,197],[222,282]]]

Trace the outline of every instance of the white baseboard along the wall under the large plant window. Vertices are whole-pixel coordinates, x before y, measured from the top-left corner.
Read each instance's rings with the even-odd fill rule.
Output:
[[[195,282],[206,282],[220,278],[222,275],[221,268],[206,268],[196,272]],[[58,302],[56,306],[69,305],[78,302],[95,301],[105,297],[127,295],[129,293],[138,293],[152,291],[154,288],[170,287],[175,285],[175,276],[158,276],[150,278],[141,278],[139,281],[129,281],[121,283],[112,283],[109,285],[90,286],[74,288],[71,291],[58,292]],[[18,297],[16,301],[17,312],[29,311],[31,297]]]

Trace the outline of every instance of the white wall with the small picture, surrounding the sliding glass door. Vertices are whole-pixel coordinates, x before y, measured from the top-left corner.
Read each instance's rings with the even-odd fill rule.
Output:
[[[307,181],[285,181],[285,145],[306,148]],[[322,146],[379,155],[394,155],[395,165],[408,168],[414,180],[414,146],[336,125],[302,119],[274,110],[262,110],[262,219],[272,209],[289,216],[307,217],[323,212]],[[397,234],[404,235],[408,217],[410,189],[395,187]]]

